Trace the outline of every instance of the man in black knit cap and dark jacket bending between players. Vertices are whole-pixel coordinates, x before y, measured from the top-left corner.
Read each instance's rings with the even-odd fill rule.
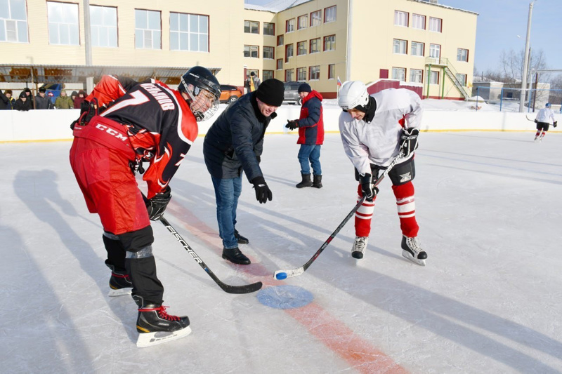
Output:
[[[223,258],[235,264],[250,263],[238,244],[249,243],[235,229],[238,197],[242,192],[242,171],[254,185],[260,203],[273,194],[259,167],[263,135],[275,110],[283,102],[285,88],[277,79],[266,79],[257,91],[243,95],[213,123],[203,143],[203,155],[216,196],[218,232],[223,239]]]

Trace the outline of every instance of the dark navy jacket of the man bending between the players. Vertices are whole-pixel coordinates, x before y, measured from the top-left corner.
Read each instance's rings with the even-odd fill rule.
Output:
[[[242,170],[251,182],[263,177],[259,157],[263,135],[277,114],[263,116],[255,93],[243,95],[214,121],[203,142],[207,170],[214,178],[237,178]]]

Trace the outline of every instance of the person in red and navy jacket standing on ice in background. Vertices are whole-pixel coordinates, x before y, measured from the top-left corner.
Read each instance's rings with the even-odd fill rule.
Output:
[[[287,121],[285,127],[294,130],[299,128],[299,163],[301,163],[302,181],[296,188],[322,188],[322,167],[320,166],[320,147],[324,142],[324,119],[322,115],[322,95],[314,91],[310,85],[299,86],[299,96],[303,100],[301,116],[294,121]],[[310,165],[309,165],[310,161]],[[311,181],[311,166],[314,180]]]

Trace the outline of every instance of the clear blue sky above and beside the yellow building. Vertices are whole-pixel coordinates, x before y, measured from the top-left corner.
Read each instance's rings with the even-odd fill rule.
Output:
[[[246,2],[263,5],[270,1]],[[475,53],[478,72],[499,69],[502,51],[525,48],[530,0],[440,0],[439,4],[479,14]],[[562,0],[536,0],[532,8],[531,48],[542,49],[550,69],[562,69],[561,13]]]

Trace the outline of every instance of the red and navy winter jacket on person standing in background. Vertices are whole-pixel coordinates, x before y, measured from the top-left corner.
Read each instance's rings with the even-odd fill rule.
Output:
[[[299,121],[299,140],[296,144],[320,145],[324,143],[324,114],[322,95],[313,90],[303,99]]]

